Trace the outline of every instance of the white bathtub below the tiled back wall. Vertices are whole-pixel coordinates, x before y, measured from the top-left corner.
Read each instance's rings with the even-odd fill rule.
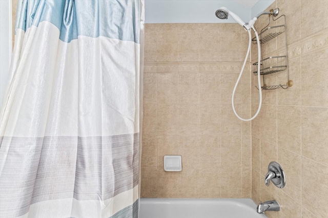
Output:
[[[140,199],[139,218],[260,217],[251,199]]]

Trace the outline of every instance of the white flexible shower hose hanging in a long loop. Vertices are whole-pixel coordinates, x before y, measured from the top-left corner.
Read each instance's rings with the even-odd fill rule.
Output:
[[[254,30],[254,29],[253,29]],[[262,106],[262,89],[261,89],[261,77],[260,77],[260,66],[261,66],[261,45],[260,45],[260,40],[259,40],[259,36],[258,36],[258,33],[257,31],[254,30],[255,32],[255,36],[256,36],[256,41],[257,41],[257,51],[258,51],[258,64],[257,64],[257,83],[258,83],[258,91],[259,91],[259,106],[258,106],[258,109],[255,113],[255,115],[249,119],[244,119],[244,118],[241,118],[237,112],[236,112],[236,109],[235,109],[235,103],[234,103],[234,96],[235,96],[235,92],[236,92],[236,89],[237,89],[237,86],[238,86],[238,83],[240,81],[240,78],[241,78],[241,75],[242,75],[242,72],[245,68],[245,64],[247,62],[247,59],[248,59],[248,56],[250,54],[250,51],[251,51],[251,44],[252,44],[252,35],[251,35],[251,29],[249,29],[248,31],[248,35],[249,35],[249,43],[248,43],[248,49],[247,49],[247,54],[246,54],[246,57],[245,57],[245,60],[244,60],[244,63],[242,64],[242,67],[241,67],[241,70],[240,70],[240,74],[239,74],[239,77],[237,79],[237,82],[236,82],[236,85],[234,87],[234,90],[232,92],[232,109],[234,111],[234,113],[236,114],[236,116],[243,120],[243,121],[250,121],[250,120],[253,120],[260,112],[261,110],[261,106]]]

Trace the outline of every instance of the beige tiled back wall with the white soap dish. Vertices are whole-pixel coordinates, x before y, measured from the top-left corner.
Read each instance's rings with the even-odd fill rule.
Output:
[[[251,123],[231,108],[247,33],[213,23],[145,30],[141,197],[250,198]],[[249,64],[245,71],[235,102],[250,116]],[[165,172],[163,155],[181,155],[182,172]]]

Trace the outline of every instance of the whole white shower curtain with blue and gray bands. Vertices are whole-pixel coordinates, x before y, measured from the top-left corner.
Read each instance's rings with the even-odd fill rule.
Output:
[[[138,217],[144,0],[20,0],[16,19],[0,217]]]

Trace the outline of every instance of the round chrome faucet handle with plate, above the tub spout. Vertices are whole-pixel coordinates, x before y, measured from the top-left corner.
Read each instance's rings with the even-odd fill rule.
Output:
[[[286,185],[286,176],[282,167],[277,162],[271,162],[268,166],[268,173],[265,175],[265,185],[269,186],[270,180],[278,188]]]

